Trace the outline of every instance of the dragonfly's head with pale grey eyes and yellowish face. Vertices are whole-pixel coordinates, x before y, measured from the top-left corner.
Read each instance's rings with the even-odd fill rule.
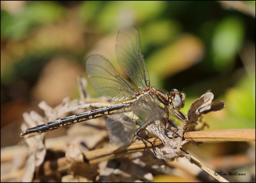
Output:
[[[180,108],[184,107],[186,98],[184,93],[179,92],[177,89],[173,89],[170,92],[169,98],[169,102],[174,109],[180,110]]]

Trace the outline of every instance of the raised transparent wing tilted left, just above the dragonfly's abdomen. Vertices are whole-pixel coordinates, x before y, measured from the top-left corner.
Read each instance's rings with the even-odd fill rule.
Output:
[[[92,87],[101,95],[115,101],[124,101],[134,96],[136,88],[101,55],[92,55],[85,61]]]

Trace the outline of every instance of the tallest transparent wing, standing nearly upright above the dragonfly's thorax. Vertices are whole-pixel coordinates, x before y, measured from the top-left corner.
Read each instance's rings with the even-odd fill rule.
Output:
[[[140,35],[135,27],[124,26],[119,30],[116,57],[119,65],[139,88],[150,85],[148,69],[141,54]]]

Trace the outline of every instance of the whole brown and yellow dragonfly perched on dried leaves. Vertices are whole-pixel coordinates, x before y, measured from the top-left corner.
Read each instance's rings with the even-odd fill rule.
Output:
[[[163,126],[168,129],[166,123],[169,120],[169,113],[182,121],[188,121],[180,112],[185,105],[184,93],[177,89],[165,93],[150,86],[148,69],[141,54],[140,35],[136,27],[128,25],[120,28],[116,38],[116,57],[133,84],[102,55],[89,56],[85,61],[85,68],[92,87],[101,95],[120,103],[28,128],[20,132],[19,136],[41,134],[108,116],[106,129],[110,141],[117,146],[123,146],[131,143],[134,134],[142,141],[148,141],[140,132],[156,120],[164,120]],[[137,125],[140,127],[137,128]],[[148,142],[153,149],[152,142]]]

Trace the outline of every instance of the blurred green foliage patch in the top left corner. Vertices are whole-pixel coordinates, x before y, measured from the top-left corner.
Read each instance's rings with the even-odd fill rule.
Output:
[[[12,41],[24,38],[36,26],[55,22],[62,15],[63,8],[51,1],[28,3],[17,14],[10,14],[1,9],[1,38],[9,38]]]

